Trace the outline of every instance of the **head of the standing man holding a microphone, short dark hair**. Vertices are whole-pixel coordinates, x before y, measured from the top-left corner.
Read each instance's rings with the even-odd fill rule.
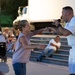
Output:
[[[63,7],[62,9],[62,19],[69,22],[74,16],[73,9],[70,6]]]

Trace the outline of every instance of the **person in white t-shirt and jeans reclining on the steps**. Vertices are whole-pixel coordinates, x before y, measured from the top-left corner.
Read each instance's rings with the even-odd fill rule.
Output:
[[[41,61],[43,56],[52,56],[54,52],[60,48],[60,37],[56,36],[55,39],[51,39],[47,47],[43,50],[43,52],[37,57],[37,61]]]

